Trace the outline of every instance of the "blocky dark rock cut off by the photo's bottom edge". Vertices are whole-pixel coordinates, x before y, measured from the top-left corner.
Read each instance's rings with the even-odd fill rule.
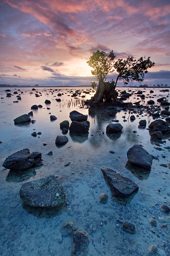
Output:
[[[88,252],[88,233],[74,231],[72,235],[71,256],[85,256]]]

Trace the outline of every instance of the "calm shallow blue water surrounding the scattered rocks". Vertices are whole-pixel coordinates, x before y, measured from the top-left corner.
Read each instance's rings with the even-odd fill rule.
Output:
[[[49,90],[50,88],[52,90]],[[121,112],[117,113],[116,117],[108,118],[106,112],[99,109],[95,117],[88,116],[89,134],[76,136],[68,133],[66,136],[69,142],[57,148],[55,138],[57,135],[63,135],[60,123],[63,120],[69,120],[71,123],[70,111],[77,110],[88,114],[88,109],[85,106],[79,108],[82,105],[77,104],[76,99],[71,97],[70,90],[75,92],[77,88],[60,88],[60,92],[64,93],[61,97],[57,96],[58,91],[53,92],[56,88],[50,88],[39,88],[38,92],[42,93],[40,97],[35,97],[36,91],[32,91],[32,88],[19,88],[23,93],[21,93],[22,100],[18,100],[18,103],[13,103],[17,99],[16,94],[6,98],[4,90],[7,88],[0,88],[1,97],[4,98],[1,99],[0,105],[0,140],[3,141],[0,144],[0,255],[70,255],[71,236],[62,237],[60,231],[62,225],[70,220],[78,230],[87,231],[89,234],[87,255],[148,255],[147,250],[152,244],[158,246],[157,255],[170,255],[168,222],[170,215],[159,210],[162,204],[170,205],[170,170],[168,167],[159,165],[170,162],[169,151],[165,148],[170,146],[169,136],[163,139],[166,143],[161,145],[162,150],[158,151],[150,141],[149,131],[138,128],[138,122],[141,119],[147,121],[146,128],[153,121],[147,113],[144,112],[138,117],[138,113],[134,114],[136,120],[132,122],[130,118],[128,119],[128,110],[120,108]],[[118,89],[128,91],[126,88]],[[129,89],[137,92],[139,88]],[[150,94],[151,88],[139,90],[141,89],[145,91],[145,96],[156,95],[152,96],[155,102],[158,97],[166,97],[169,94],[159,92],[159,88],[154,88],[152,94]],[[13,93],[12,90],[11,92]],[[86,95],[86,98],[90,99],[93,94],[82,93],[81,95]],[[61,98],[62,101],[56,102],[55,98]],[[79,98],[82,100],[81,97]],[[138,101],[137,98],[139,97],[132,95],[126,101]],[[51,104],[46,105],[44,103],[46,99],[51,100]],[[145,101],[147,100],[150,98],[145,98]],[[28,125],[14,125],[13,119],[28,114],[34,104],[43,106],[33,110],[31,118],[36,122]],[[49,113],[55,115],[57,120],[51,122]],[[113,139],[107,136],[106,126],[115,118],[122,124],[123,130],[120,137]],[[127,122],[123,122],[124,119]],[[134,130],[137,132],[133,133]],[[42,132],[40,138],[31,136],[33,131]],[[44,142],[47,143],[46,146],[43,146]],[[150,154],[159,157],[159,160],[153,159],[150,173],[141,173],[140,168],[133,168],[127,163],[127,151],[134,144],[143,145]],[[41,152],[43,165],[22,173],[4,169],[2,164],[5,158],[23,148],[29,148],[31,153]],[[115,150],[115,154],[109,153],[110,150]],[[52,156],[46,155],[49,151],[53,152]],[[166,157],[162,158],[162,156]],[[68,162],[71,164],[65,167],[64,165]],[[139,191],[128,199],[112,198],[100,169],[104,165],[133,180],[139,186]],[[27,180],[31,181],[48,175],[58,176],[66,192],[67,204],[59,209],[41,209],[21,202],[19,190],[22,184]],[[101,193],[108,194],[106,204],[99,203]],[[153,216],[157,220],[157,227],[152,227],[149,223]],[[117,219],[120,221],[116,221]],[[122,229],[121,222],[125,220],[135,225],[134,235]],[[102,225],[100,225],[101,222]],[[167,227],[161,228],[164,223],[167,223]]]

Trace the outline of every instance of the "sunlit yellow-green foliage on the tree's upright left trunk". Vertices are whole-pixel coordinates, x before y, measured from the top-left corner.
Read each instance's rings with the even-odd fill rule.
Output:
[[[91,70],[92,75],[96,76],[97,81],[100,83],[100,75],[103,78],[103,81],[106,81],[108,73],[113,72],[113,64],[115,62],[115,54],[113,50],[110,54],[106,54],[106,52],[93,52],[93,55],[90,56],[90,60],[87,61],[87,64],[93,68]]]

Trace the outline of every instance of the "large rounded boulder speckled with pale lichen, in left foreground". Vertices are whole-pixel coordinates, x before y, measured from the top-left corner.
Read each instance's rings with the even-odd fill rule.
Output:
[[[19,194],[26,204],[34,207],[57,207],[66,199],[63,186],[54,175],[24,183]]]

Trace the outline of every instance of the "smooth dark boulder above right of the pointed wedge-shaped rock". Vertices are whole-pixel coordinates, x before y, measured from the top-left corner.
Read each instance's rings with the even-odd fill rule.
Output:
[[[127,152],[130,163],[151,169],[153,156],[150,155],[141,145],[133,145]]]

